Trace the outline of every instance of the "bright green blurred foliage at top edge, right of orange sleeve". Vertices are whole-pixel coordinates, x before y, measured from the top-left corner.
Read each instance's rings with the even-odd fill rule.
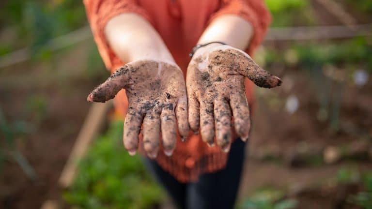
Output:
[[[273,16],[272,27],[304,26],[316,23],[309,0],[265,0],[265,2]]]

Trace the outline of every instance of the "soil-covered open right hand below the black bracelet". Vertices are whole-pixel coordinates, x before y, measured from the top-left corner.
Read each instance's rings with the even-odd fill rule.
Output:
[[[264,88],[281,84],[279,77],[264,71],[248,54],[228,45],[198,49],[187,68],[190,128],[198,132],[200,127],[202,140],[211,146],[216,134],[217,145],[225,152],[231,145],[232,115],[236,133],[244,141],[249,137],[245,77]]]

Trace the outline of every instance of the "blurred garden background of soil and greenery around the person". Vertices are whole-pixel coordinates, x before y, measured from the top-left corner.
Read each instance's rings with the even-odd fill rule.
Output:
[[[372,1],[265,0],[238,209],[372,208]],[[0,208],[171,209],[86,96],[109,75],[77,0],[0,1]]]

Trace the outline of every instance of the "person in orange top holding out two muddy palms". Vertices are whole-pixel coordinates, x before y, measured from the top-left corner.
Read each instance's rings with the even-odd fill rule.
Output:
[[[281,84],[248,55],[270,23],[263,0],[84,4],[99,53],[112,72],[88,101],[115,97],[115,108],[125,118],[125,149],[148,156],[145,164],[179,208],[233,208],[253,83]]]

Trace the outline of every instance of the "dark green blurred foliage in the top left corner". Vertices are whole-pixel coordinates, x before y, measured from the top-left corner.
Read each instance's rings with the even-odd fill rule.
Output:
[[[0,44],[0,55],[31,46],[33,57],[46,59],[51,55],[43,47],[51,38],[86,25],[82,1],[7,0],[1,4],[0,29],[10,30],[11,40]]]

